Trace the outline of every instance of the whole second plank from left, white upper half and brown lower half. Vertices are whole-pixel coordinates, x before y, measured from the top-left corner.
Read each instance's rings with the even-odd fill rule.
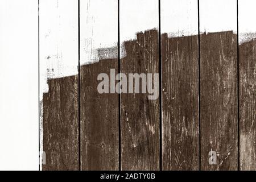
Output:
[[[42,169],[78,170],[78,1],[40,1],[39,17]]]

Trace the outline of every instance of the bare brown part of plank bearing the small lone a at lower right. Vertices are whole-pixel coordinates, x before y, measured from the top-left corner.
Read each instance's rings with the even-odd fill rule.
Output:
[[[237,35],[200,35],[201,169],[237,170]],[[209,152],[217,165],[209,165]]]

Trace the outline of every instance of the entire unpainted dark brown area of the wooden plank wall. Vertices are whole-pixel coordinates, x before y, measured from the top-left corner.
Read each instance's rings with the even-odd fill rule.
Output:
[[[42,100],[42,169],[255,170],[256,40],[239,44],[238,30],[168,36],[157,16],[158,28],[138,32],[122,47],[120,1],[114,1],[118,34],[113,42],[118,46],[104,49],[117,56],[99,56],[92,64],[77,59],[77,75],[48,78]],[[81,5],[80,15],[86,11]],[[193,23],[200,28],[200,21]],[[74,34],[77,42],[82,34],[81,29]],[[74,53],[79,57],[86,51],[80,43]],[[158,99],[98,93],[97,76],[110,76],[110,69],[159,73]],[[214,152],[217,161],[210,164]]]

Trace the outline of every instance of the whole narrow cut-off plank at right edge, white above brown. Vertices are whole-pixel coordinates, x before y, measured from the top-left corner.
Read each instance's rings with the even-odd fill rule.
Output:
[[[239,74],[240,74],[240,169],[256,170],[256,25],[255,1],[238,1]]]

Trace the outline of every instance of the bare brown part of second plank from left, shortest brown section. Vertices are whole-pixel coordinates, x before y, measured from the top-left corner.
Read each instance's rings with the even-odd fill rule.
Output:
[[[43,150],[46,170],[79,170],[78,78],[48,80],[43,95]]]

